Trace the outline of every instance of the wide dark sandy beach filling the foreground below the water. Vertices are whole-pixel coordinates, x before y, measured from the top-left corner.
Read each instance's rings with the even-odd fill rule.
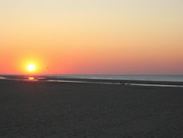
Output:
[[[0,137],[183,138],[183,88],[1,80]]]

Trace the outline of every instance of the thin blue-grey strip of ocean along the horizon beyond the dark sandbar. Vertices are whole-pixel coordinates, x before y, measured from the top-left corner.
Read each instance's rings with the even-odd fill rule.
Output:
[[[56,78],[183,82],[183,75],[52,75]]]

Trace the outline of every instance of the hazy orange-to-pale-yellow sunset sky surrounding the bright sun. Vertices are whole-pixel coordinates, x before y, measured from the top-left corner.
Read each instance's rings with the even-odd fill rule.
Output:
[[[183,74],[182,0],[0,0],[0,74]]]

